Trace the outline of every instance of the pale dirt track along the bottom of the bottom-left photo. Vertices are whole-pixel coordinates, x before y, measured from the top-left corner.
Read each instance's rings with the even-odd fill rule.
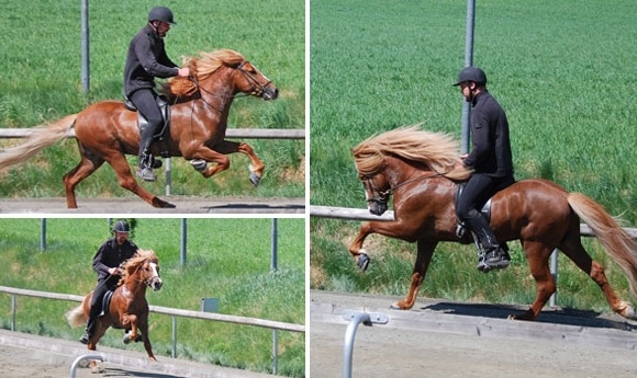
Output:
[[[76,369],[77,378],[154,377],[154,378],[257,378],[276,377],[246,370],[224,368],[157,356],[150,363],[145,352],[101,347],[89,353],[79,342],[55,340],[32,334],[0,330],[0,377],[62,378],[70,377],[74,360],[86,354],[101,354],[103,371],[88,367]]]

